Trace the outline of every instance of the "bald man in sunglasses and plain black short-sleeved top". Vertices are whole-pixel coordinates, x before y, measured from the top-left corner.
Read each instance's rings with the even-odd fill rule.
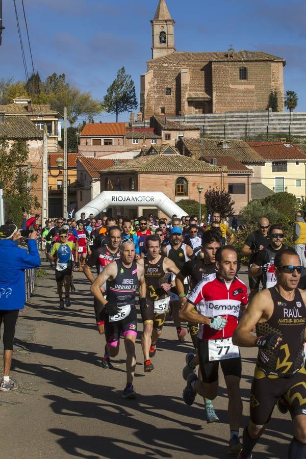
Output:
[[[269,220],[266,217],[262,217],[258,222],[258,230],[253,231],[244,241],[244,244],[241,249],[241,253],[249,258],[249,265],[250,268],[253,261],[255,254],[264,250],[270,243],[269,238]],[[262,279],[262,274],[257,277],[249,277],[249,287],[250,287],[250,295],[251,298],[255,293],[259,291],[260,281]]]

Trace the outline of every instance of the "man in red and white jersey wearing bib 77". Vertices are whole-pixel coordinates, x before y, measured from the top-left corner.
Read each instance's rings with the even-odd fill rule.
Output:
[[[237,251],[224,245],[216,252],[217,273],[201,281],[191,292],[180,313],[186,321],[194,321],[194,309],[200,324],[197,352],[202,380],[195,373],[188,376],[183,398],[192,405],[196,394],[208,399],[218,395],[219,363],[224,375],[228,395],[228,419],[231,437],[228,454],[241,450],[239,427],[242,416],[240,397],[241,358],[232,336],[238,324],[241,305],[247,304],[246,285],[236,277]]]

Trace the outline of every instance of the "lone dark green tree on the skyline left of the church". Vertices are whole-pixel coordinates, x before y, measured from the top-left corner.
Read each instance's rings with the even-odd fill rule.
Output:
[[[131,75],[125,73],[124,67],[118,70],[116,80],[107,89],[103,105],[106,112],[116,115],[116,122],[120,113],[137,109],[135,85]]]

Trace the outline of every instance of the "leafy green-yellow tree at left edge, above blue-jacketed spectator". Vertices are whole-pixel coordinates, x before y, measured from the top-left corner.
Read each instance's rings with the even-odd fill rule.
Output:
[[[32,185],[38,175],[28,171],[29,151],[24,142],[17,141],[10,146],[6,139],[0,139],[0,183],[5,201],[5,218],[21,223],[20,206],[38,209],[37,196],[31,194]]]

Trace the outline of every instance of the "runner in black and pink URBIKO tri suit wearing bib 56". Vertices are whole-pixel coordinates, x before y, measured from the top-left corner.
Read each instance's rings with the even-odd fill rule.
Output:
[[[137,313],[135,296],[137,285],[145,285],[144,269],[135,262],[135,244],[132,239],[120,243],[120,259],[107,265],[91,285],[95,299],[104,304],[105,336],[111,357],[119,352],[120,335],[126,350],[126,387],[124,398],[135,398],[133,378],[136,367],[135,342],[137,338]],[[101,287],[106,283],[106,298]],[[141,290],[142,291],[142,290]]]

